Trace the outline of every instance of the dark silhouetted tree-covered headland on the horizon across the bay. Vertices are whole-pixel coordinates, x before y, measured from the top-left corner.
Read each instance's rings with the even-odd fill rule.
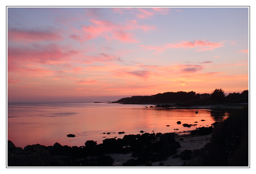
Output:
[[[164,92],[151,96],[132,96],[121,98],[112,103],[123,104],[159,104],[159,103],[175,103],[178,106],[189,105],[210,105],[223,103],[248,103],[249,92],[244,90],[242,93],[234,92],[225,96],[224,91],[215,89],[211,94],[199,94],[194,91],[184,92]]]

